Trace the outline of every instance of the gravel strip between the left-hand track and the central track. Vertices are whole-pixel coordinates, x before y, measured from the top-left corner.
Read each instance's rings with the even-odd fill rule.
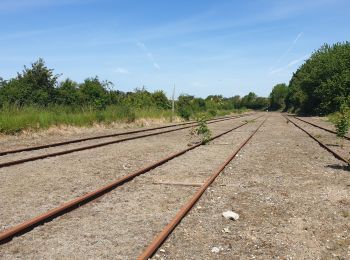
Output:
[[[210,124],[221,133],[242,120]],[[0,169],[0,230],[187,147],[189,129]],[[142,147],[142,149],[139,149]]]

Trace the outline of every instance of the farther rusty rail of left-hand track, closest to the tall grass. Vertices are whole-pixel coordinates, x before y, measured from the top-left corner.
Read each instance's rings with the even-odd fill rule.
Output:
[[[242,117],[242,116],[248,116],[251,114],[252,113],[238,115],[238,116],[224,116],[224,117],[219,117],[219,118],[214,118],[214,119],[208,120],[208,122],[216,121],[216,120],[220,120],[220,119],[225,119],[225,118],[238,118],[238,117]],[[19,149],[7,150],[7,151],[0,151],[0,156],[4,156],[7,154],[20,153],[20,152],[35,151],[35,150],[40,150],[40,149],[45,149],[45,148],[50,148],[50,147],[62,146],[62,145],[79,143],[79,142],[96,140],[96,139],[103,139],[103,138],[110,138],[110,137],[116,137],[116,136],[122,136],[122,135],[128,135],[128,134],[148,132],[148,131],[153,131],[153,130],[159,130],[159,129],[169,128],[169,127],[176,127],[176,126],[189,125],[189,124],[195,124],[195,123],[196,123],[195,121],[191,121],[191,122],[185,122],[185,123],[179,123],[179,124],[173,124],[173,125],[152,127],[152,128],[147,128],[147,129],[133,130],[133,131],[127,131],[127,132],[122,132],[122,133],[108,134],[108,135],[98,135],[98,136],[93,136],[93,137],[68,140],[68,141],[64,141],[64,142],[57,142],[57,143],[51,143],[51,144],[45,144],[45,145],[38,145],[38,146],[25,147],[25,148],[19,148]]]

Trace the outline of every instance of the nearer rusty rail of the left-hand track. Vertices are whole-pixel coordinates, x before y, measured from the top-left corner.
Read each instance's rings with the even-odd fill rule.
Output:
[[[208,122],[208,124],[214,124],[214,123],[227,121],[227,120],[232,120],[232,119],[236,119],[236,118],[238,118],[238,117],[220,119],[220,120]],[[108,142],[103,142],[103,143],[99,143],[99,144],[93,144],[93,145],[87,145],[87,146],[82,146],[82,147],[78,147],[78,148],[72,148],[72,149],[68,149],[68,150],[64,150],[64,151],[60,151],[60,152],[52,152],[52,153],[47,153],[47,154],[43,154],[43,155],[28,157],[28,158],[24,158],[24,159],[7,161],[7,162],[0,163],[0,168],[5,168],[5,167],[13,166],[13,165],[26,163],[26,162],[32,162],[32,161],[45,159],[45,158],[49,158],[49,157],[55,157],[55,156],[59,156],[59,155],[65,155],[65,154],[69,154],[69,153],[74,153],[74,152],[94,149],[94,148],[98,148],[98,147],[102,147],[102,146],[107,146],[107,145],[111,145],[111,144],[117,144],[117,143],[130,141],[130,140],[135,140],[135,139],[140,139],[140,138],[144,138],[144,137],[150,137],[150,136],[155,136],[155,135],[160,135],[160,134],[171,133],[171,132],[175,132],[175,131],[191,128],[191,127],[197,126],[197,125],[198,124],[190,125],[190,126],[183,126],[183,127],[179,127],[179,128],[175,128],[175,129],[161,131],[161,132],[155,132],[155,133],[150,133],[150,134],[143,134],[143,135],[138,135],[138,136],[126,137],[126,138],[113,140],[113,141],[108,141]]]

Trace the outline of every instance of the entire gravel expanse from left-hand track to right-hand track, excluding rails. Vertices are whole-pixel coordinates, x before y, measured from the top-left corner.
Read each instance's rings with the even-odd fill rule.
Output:
[[[154,259],[350,258],[349,171],[280,114],[266,115],[263,127]],[[213,134],[245,119],[211,125]],[[262,120],[0,245],[0,258],[135,259],[198,189],[196,184]],[[178,151],[187,145],[187,135],[183,130],[0,169],[0,228]],[[174,185],[179,182],[194,185]],[[227,210],[240,218],[223,218]]]

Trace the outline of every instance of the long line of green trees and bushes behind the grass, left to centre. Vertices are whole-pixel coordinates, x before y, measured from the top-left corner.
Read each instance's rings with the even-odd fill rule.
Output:
[[[109,81],[98,77],[87,78],[82,83],[71,79],[59,81],[60,75],[46,67],[44,60],[39,59],[31,67],[9,80],[0,78],[0,108],[6,106],[67,106],[73,108],[103,110],[110,105],[130,107],[133,109],[171,109],[171,101],[161,90],[153,93],[145,88],[133,92],[114,90]],[[207,98],[196,98],[180,95],[176,101],[176,110],[180,116],[188,119],[192,114],[208,111],[215,115],[217,110],[239,108],[265,109],[268,99],[258,97],[251,92],[244,97],[225,98],[211,95]]]

